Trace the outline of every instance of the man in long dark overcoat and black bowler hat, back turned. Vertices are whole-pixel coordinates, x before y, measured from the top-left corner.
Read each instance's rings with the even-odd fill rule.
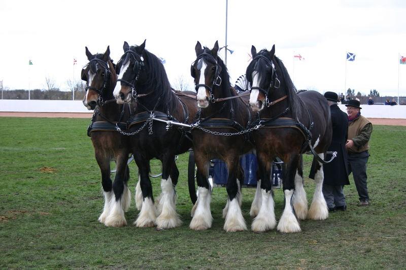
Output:
[[[336,151],[337,157],[332,162],[323,165],[323,195],[330,212],[345,211],[347,204],[343,186],[350,184],[346,150],[348,117],[337,105],[338,95],[336,93],[326,92],[324,97],[330,105],[332,123],[332,140],[328,151]]]

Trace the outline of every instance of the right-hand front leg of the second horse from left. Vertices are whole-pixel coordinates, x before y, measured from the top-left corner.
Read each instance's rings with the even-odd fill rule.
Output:
[[[176,191],[171,175],[176,177],[178,182],[179,171],[175,165],[174,155],[166,155],[162,160],[161,196],[158,209],[160,214],[156,219],[157,229],[178,227],[182,224],[178,213],[176,213]]]

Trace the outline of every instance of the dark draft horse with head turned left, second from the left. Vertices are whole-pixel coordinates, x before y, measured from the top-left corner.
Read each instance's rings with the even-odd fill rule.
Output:
[[[138,227],[157,226],[157,229],[179,226],[181,220],[176,213],[175,185],[179,171],[175,155],[186,152],[192,142],[179,128],[166,130],[166,124],[153,122],[151,115],[164,120],[192,123],[197,106],[193,92],[188,94],[172,90],[161,60],[140,46],[129,47],[124,42],[124,54],[117,63],[118,82],[114,89],[117,103],[135,101],[134,117],[130,120],[131,149],[137,153],[134,159],[139,169],[141,190],[137,190],[137,206],[141,211],[134,222]],[[162,162],[161,196],[154,207],[149,161],[156,158]],[[137,185],[138,186],[138,185]],[[142,197],[141,197],[142,196]]]

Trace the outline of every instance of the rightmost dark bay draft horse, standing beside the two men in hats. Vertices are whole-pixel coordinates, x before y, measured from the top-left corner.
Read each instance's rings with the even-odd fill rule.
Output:
[[[272,161],[279,157],[285,163],[285,208],[277,229],[284,233],[300,232],[297,218],[323,220],[328,217],[322,194],[322,162],[332,136],[330,108],[327,100],[316,91],[296,93],[285,66],[275,56],[275,45],[270,51],[264,49],[258,53],[252,46],[251,53],[253,60],[246,71],[252,88],[250,106],[253,111],[260,112],[260,123],[263,126],[253,132],[262,195],[261,198],[255,198],[255,204],[251,207],[252,215],[256,216],[252,229],[264,232],[276,226],[269,173]],[[301,153],[309,151],[310,145],[317,152],[313,160],[316,164],[316,190],[308,211],[303,189]]]

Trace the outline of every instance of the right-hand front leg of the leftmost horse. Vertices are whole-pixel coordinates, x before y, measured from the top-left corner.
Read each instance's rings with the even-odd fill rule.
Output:
[[[109,227],[121,227],[127,225],[124,210],[131,201],[126,181],[128,180],[127,157],[116,157],[116,177],[113,183],[114,199],[111,199],[110,213],[106,218],[105,225]]]

